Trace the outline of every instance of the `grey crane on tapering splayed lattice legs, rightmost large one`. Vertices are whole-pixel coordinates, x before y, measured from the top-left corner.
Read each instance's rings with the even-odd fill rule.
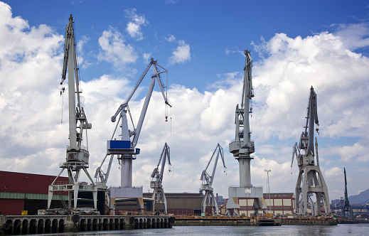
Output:
[[[292,151],[292,162],[296,156],[299,166],[299,176],[296,182],[296,213],[301,215],[308,214],[308,205],[311,207],[311,214],[323,215],[321,207],[324,208],[324,215],[331,214],[329,205],[328,188],[324,181],[323,174],[319,167],[318,141],[315,138],[316,162],[314,154],[314,124],[319,126],[318,111],[316,105],[316,93],[314,88],[310,88],[309,104],[307,107],[306,124],[304,132],[301,134],[299,145],[294,144]],[[319,129],[316,128],[316,132]],[[304,153],[301,154],[300,150]],[[312,196],[315,194],[315,203]]]

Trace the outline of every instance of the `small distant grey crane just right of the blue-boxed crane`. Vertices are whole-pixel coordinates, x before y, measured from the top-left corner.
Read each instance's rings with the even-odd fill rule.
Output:
[[[171,165],[171,149],[168,144],[165,143],[163,151],[161,151],[161,155],[159,158],[159,163],[154,168],[154,171],[151,173],[152,181],[150,181],[150,188],[154,188],[154,193],[152,193],[152,198],[154,198],[154,204],[163,205],[162,212],[167,213],[167,205],[166,205],[166,197],[163,189],[163,176],[164,176],[164,167],[166,163],[166,159],[168,159],[169,165]],[[159,168],[161,163],[161,167]],[[160,171],[159,171],[160,170]],[[170,170],[169,170],[170,171]]]

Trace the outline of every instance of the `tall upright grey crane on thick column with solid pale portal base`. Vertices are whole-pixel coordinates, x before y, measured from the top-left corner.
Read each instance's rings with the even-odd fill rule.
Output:
[[[263,213],[267,210],[267,203],[263,198],[262,187],[253,187],[251,184],[250,161],[254,159],[250,156],[255,152],[254,141],[251,140],[250,113],[252,113],[252,59],[250,52],[245,50],[245,75],[243,79],[243,91],[241,104],[237,104],[235,110],[235,141],[230,142],[230,153],[238,161],[240,169],[240,187],[228,188],[227,214],[239,215],[237,198],[254,198],[254,215],[258,210]]]

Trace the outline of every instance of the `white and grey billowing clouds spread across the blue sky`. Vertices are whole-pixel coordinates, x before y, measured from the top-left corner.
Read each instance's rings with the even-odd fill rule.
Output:
[[[360,27],[368,30],[368,26]],[[355,27],[351,29],[354,31]],[[266,186],[264,168],[268,168],[272,170],[269,173],[272,192],[294,192],[297,167],[290,168],[292,145],[299,141],[303,130],[311,85],[318,96],[319,155],[331,199],[342,195],[343,163],[349,162],[357,170],[353,178],[366,178],[369,60],[353,51],[367,45],[365,34],[356,35],[352,41],[345,36],[353,33],[344,31],[316,33],[306,38],[278,33],[267,41],[255,43],[255,50],[262,53],[264,60],[254,62],[253,67],[252,139],[255,139],[256,153],[251,162],[251,178],[254,186]],[[0,43],[2,169],[56,175],[60,171],[59,163],[65,161],[68,145],[65,118],[68,99],[60,97],[59,87],[63,36],[46,25],[28,26],[27,21],[13,17],[11,8],[0,2]],[[134,63],[138,58],[134,45],[124,43],[116,28],[103,31],[99,44],[101,51],[96,63],[105,61],[119,66]],[[225,149],[227,169],[224,173],[218,165],[215,192],[227,197],[228,186],[239,184],[238,163],[228,153],[228,144],[235,136],[234,115],[241,99],[242,60],[240,71],[214,75],[216,82],[209,86],[209,91],[171,85],[168,96],[173,108],[169,122],[164,121],[163,97],[154,91],[137,145],[141,154],[134,161],[134,186],[144,186],[144,191],[149,189],[149,176],[165,142],[172,152],[172,171],[166,172],[163,183],[167,192],[197,192],[200,173],[218,143]],[[190,61],[190,46],[178,41],[171,63]],[[115,127],[109,119],[132,84],[126,77],[102,75],[81,82],[81,87],[83,107],[93,125],[88,141],[89,171],[94,176]],[[130,103],[135,124],[142,104],[141,99]],[[63,123],[60,122],[62,110]],[[351,142],[341,144],[346,137]],[[119,166],[114,160],[108,184],[119,186],[119,182]],[[351,188],[363,191],[368,186]]]

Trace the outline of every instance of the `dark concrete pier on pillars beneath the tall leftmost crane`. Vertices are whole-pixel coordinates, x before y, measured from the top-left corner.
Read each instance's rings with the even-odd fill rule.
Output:
[[[170,228],[168,215],[0,215],[0,235]]]

